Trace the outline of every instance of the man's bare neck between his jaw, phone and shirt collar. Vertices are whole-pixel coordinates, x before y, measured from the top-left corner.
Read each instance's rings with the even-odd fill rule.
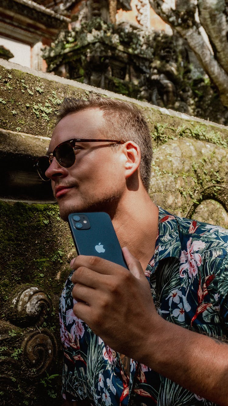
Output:
[[[158,207],[146,191],[132,196],[129,193],[121,201],[112,222],[121,247],[126,246],[145,270],[154,254]]]

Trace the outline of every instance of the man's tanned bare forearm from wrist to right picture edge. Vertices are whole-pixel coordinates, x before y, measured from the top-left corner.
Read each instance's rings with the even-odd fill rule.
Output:
[[[228,344],[167,322],[158,316],[144,340],[141,363],[184,388],[228,405]]]

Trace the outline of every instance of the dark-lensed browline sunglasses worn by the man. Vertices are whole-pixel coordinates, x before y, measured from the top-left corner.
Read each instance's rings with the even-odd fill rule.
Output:
[[[72,138],[71,140],[64,141],[63,143],[57,145],[54,151],[49,155],[40,156],[40,158],[36,159],[35,165],[38,174],[40,175],[41,179],[44,181],[49,181],[50,179],[45,176],[45,172],[51,165],[51,161],[55,158],[63,168],[70,168],[75,163],[75,150],[77,147],[75,146],[76,143],[98,143],[98,142],[106,142],[112,144],[124,144],[124,141],[119,140],[90,140],[85,138]]]

